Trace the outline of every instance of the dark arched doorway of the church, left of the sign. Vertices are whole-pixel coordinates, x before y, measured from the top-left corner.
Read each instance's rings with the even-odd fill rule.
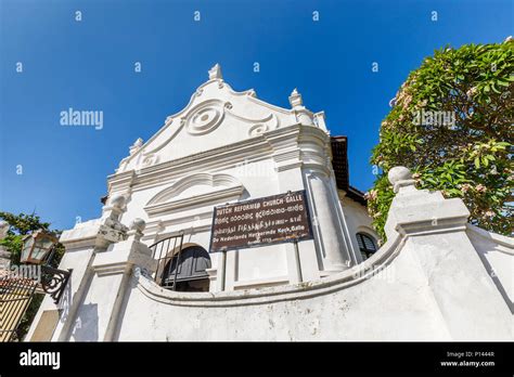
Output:
[[[162,285],[174,288],[176,282],[177,291],[208,291],[209,278],[205,270],[209,268],[210,257],[207,250],[198,245],[185,247],[166,263]]]

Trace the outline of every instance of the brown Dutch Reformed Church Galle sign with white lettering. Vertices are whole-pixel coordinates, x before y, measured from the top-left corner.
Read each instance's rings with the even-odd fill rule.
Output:
[[[216,207],[210,252],[312,238],[304,191]]]

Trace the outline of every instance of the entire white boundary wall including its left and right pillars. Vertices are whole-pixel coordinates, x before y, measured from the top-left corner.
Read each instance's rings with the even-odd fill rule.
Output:
[[[388,240],[363,263],[294,285],[175,292],[153,282],[137,223],[80,259],[85,273],[51,339],[513,340],[512,238],[471,227],[462,200],[417,191],[395,169]],[[77,263],[78,248],[61,268]]]

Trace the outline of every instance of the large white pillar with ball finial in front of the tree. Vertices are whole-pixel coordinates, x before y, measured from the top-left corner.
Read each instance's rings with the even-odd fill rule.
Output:
[[[401,252],[426,278],[425,286],[450,337],[480,340],[514,336],[507,303],[466,235],[470,211],[464,203],[445,199],[440,192],[416,190],[403,167],[389,170],[388,178],[397,195],[387,217],[387,237],[403,236]]]

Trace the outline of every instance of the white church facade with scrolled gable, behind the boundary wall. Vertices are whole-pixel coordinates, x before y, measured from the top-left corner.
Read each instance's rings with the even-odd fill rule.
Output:
[[[299,260],[291,243],[228,250],[223,290],[318,280],[359,263],[357,233],[373,243],[376,235],[362,194],[348,184],[346,138],[331,138],[323,113],[307,109],[296,90],[290,103],[234,92],[216,65],[184,109],[130,148],[108,178],[107,200],[124,197],[124,223],[145,221],[143,242],[183,233],[184,249],[208,251],[214,207],[305,190],[314,237],[298,243]],[[220,255],[208,258],[217,291]]]

